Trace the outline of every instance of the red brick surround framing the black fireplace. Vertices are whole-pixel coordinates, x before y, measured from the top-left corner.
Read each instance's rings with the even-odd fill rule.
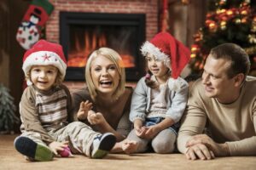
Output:
[[[65,12],[146,14],[146,39],[158,31],[158,0],[49,0],[55,6],[46,24],[46,39],[60,42],[59,14]],[[65,82],[71,91],[84,86],[84,82]],[[134,83],[128,82],[134,86]]]

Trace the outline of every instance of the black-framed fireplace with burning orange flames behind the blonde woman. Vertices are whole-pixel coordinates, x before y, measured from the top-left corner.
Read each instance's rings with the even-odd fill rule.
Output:
[[[125,64],[126,80],[144,74],[139,48],[145,41],[145,14],[60,13],[60,42],[67,57],[67,81],[84,81],[84,65],[96,48],[116,50]]]

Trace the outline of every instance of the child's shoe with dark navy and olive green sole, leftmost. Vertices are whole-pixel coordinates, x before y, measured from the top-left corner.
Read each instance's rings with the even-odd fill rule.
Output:
[[[51,161],[54,156],[48,147],[23,136],[15,139],[15,149],[35,161]]]

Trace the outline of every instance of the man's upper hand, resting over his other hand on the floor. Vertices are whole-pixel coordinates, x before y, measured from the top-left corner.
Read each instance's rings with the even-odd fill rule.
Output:
[[[198,134],[198,135],[193,136],[187,142],[186,147],[190,149],[192,146],[195,146],[195,145],[198,146],[198,144],[203,144],[204,146],[206,146],[207,150],[211,150],[214,156],[230,156],[230,150],[229,150],[229,147],[227,144],[218,144],[218,143],[214,142],[206,134]],[[203,153],[205,153],[205,152],[207,152],[207,151],[204,148]],[[212,157],[212,158],[214,158],[214,157]]]

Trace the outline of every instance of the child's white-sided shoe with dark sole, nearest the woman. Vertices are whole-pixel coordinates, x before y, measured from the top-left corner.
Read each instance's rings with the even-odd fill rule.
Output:
[[[99,159],[107,156],[115,143],[116,138],[113,133],[104,133],[96,136],[92,142],[91,158]]]

